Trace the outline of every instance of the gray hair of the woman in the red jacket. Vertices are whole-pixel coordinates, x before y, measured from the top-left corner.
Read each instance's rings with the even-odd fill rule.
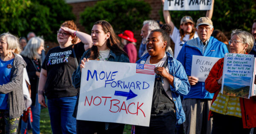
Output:
[[[246,48],[246,52],[249,53],[254,44],[254,37],[252,34],[248,33],[247,31],[241,31],[240,29],[235,29],[232,31],[231,38],[236,35],[241,39],[241,41],[245,44],[248,44],[248,47]]]

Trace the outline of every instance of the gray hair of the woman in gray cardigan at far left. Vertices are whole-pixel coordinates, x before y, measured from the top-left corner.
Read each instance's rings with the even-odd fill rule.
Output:
[[[7,49],[17,49],[17,53],[21,51],[19,40],[16,36],[10,33],[3,33],[0,35],[0,40],[6,39],[6,43],[8,44]]]

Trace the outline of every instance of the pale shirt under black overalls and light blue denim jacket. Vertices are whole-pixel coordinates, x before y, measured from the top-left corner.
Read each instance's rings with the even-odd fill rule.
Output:
[[[158,62],[158,63],[155,63],[155,64],[151,64],[150,63],[150,57],[149,56],[145,62],[145,64],[150,64],[150,65],[154,65],[155,67],[162,67],[163,64],[165,63],[165,61],[167,60],[167,55],[166,53],[164,54],[163,58]],[[167,65],[166,66],[166,71],[169,73],[169,66]],[[156,74],[157,75],[157,74]],[[166,94],[168,95],[168,97],[170,99],[172,99],[172,91],[170,89],[170,83],[168,82],[168,80],[166,78],[163,78],[163,89],[164,91],[166,92]]]

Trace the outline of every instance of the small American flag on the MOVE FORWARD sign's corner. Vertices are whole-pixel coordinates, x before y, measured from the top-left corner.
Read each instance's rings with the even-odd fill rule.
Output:
[[[137,64],[136,73],[154,75],[154,68],[155,68],[155,66],[153,66],[153,65]]]

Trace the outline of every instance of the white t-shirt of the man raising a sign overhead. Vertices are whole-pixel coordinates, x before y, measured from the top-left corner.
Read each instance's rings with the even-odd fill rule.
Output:
[[[180,41],[180,31],[176,27],[174,27],[172,35],[170,36],[172,38],[172,41],[175,43],[174,47],[174,58],[177,59],[178,54],[180,53],[180,49],[182,48],[183,44],[186,43],[189,40],[189,34],[186,34],[182,41]],[[195,39],[198,37],[197,32],[195,32],[194,37],[192,39]]]

